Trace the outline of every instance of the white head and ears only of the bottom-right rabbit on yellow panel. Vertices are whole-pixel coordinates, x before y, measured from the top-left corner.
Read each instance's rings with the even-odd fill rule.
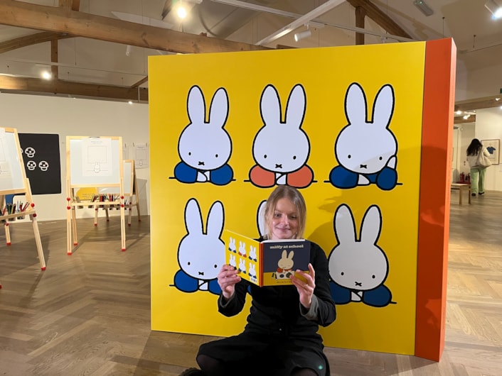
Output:
[[[372,205],[364,214],[361,237],[356,237],[356,223],[346,204],[338,206],[334,229],[338,245],[329,255],[331,280],[348,289],[360,291],[374,289],[388,275],[388,260],[378,247],[382,219],[380,209]]]

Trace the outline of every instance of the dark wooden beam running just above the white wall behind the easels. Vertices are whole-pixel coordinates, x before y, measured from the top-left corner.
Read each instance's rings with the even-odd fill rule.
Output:
[[[0,75],[0,87],[13,92],[70,94],[102,99],[148,101],[147,88],[84,84],[80,82],[63,81],[60,79],[47,81],[45,79]]]

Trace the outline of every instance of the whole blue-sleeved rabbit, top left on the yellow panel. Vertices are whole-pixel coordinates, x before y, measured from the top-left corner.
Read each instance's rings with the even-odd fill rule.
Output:
[[[183,183],[228,184],[233,179],[233,170],[228,165],[232,140],[223,128],[228,118],[227,92],[223,87],[215,92],[208,121],[205,121],[204,96],[196,85],[188,92],[187,109],[190,123],[178,140],[181,162],[174,169],[174,177]]]

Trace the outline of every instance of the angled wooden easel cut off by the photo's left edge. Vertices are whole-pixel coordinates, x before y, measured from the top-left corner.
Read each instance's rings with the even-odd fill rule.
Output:
[[[43,257],[42,242],[36,221],[35,204],[31,199],[30,182],[26,172],[19,145],[19,136],[15,128],[0,128],[0,221],[4,223],[6,244],[11,245],[9,225],[16,219],[29,216],[33,226],[33,235],[38,252],[41,270],[46,270],[46,260]],[[23,194],[26,203],[22,208],[6,203],[6,195]],[[1,284],[0,284],[1,288]]]

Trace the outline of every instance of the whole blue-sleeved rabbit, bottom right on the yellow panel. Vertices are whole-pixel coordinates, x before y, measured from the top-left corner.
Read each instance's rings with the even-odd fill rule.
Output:
[[[372,205],[365,212],[358,240],[351,209],[346,204],[336,209],[334,230],[338,245],[329,255],[331,292],[336,303],[390,304],[392,294],[383,284],[389,272],[388,259],[377,245],[381,228],[380,209]]]

